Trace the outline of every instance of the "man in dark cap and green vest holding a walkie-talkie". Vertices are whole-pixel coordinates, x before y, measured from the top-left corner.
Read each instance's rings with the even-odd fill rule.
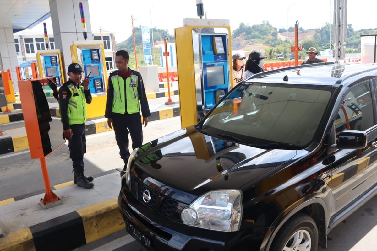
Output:
[[[84,153],[86,153],[85,122],[86,104],[92,102],[89,79],[82,83],[81,65],[72,63],[68,66],[69,80],[59,89],[59,106],[64,137],[69,143],[69,157],[72,159],[74,183],[78,187],[92,188],[93,177],[84,176]],[[82,84],[82,85],[81,85]]]

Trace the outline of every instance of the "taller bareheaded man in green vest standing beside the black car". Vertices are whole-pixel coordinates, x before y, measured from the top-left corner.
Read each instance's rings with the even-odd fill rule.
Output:
[[[140,108],[143,125],[147,126],[150,116],[143,79],[140,73],[128,67],[129,59],[126,50],[118,50],[115,53],[115,66],[118,70],[109,76],[105,111],[107,124],[110,128],[114,126],[115,139],[124,167],[130,157],[128,133],[131,135],[133,149],[143,144]]]

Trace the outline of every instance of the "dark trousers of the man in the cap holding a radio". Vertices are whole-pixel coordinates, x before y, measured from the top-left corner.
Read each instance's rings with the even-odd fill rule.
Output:
[[[84,153],[86,153],[85,123],[70,125],[73,136],[68,139],[69,157],[75,172],[84,171]]]

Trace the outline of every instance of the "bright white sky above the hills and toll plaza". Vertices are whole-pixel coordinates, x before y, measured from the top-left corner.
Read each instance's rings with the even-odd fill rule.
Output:
[[[315,29],[333,23],[334,15],[334,0],[203,0],[203,4],[207,18],[230,20],[232,32],[241,22],[251,26],[262,21],[287,29],[287,24],[294,27],[298,20],[299,27]],[[348,0],[347,23],[355,30],[376,28],[376,9],[375,0]],[[136,19],[135,27],[167,29],[170,35],[174,35],[174,28],[183,26],[184,18],[198,18],[196,0],[89,0],[89,14],[92,31],[102,27],[115,34],[116,43],[132,35],[131,15]]]

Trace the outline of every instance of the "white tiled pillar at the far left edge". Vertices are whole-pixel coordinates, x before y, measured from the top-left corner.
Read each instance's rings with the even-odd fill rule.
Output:
[[[16,66],[18,65],[12,28],[0,28],[0,66],[5,72],[11,70],[14,91],[18,91]]]

